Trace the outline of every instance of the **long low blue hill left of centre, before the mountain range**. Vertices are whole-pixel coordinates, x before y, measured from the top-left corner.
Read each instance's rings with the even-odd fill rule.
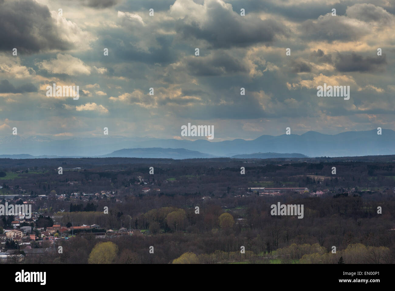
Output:
[[[111,154],[105,154],[100,158],[167,158],[167,159],[196,159],[216,158],[211,154],[203,154],[195,150],[185,148],[124,148]]]

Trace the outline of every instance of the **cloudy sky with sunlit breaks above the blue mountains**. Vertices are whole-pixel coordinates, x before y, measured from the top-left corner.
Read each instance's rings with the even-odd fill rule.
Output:
[[[394,130],[394,29],[391,0],[0,0],[0,135]]]

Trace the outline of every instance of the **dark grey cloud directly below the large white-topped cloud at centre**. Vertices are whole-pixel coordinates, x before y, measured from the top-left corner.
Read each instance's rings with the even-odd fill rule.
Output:
[[[248,67],[225,51],[215,51],[207,57],[191,57],[186,63],[190,74],[195,76],[217,76],[231,73],[246,73]]]

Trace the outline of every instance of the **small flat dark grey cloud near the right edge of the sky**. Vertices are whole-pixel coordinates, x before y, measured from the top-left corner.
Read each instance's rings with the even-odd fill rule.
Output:
[[[386,55],[363,57],[356,53],[337,54],[335,68],[339,72],[384,72],[386,70]]]

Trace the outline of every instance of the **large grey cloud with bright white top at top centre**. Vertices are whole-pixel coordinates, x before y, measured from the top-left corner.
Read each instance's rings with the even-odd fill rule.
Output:
[[[205,0],[202,5],[192,0],[176,0],[170,8],[176,30],[182,38],[201,39],[214,48],[247,47],[273,42],[276,36],[286,36],[289,30],[276,19],[261,20],[241,16],[231,4],[222,0]],[[224,29],[226,27],[226,29]]]

